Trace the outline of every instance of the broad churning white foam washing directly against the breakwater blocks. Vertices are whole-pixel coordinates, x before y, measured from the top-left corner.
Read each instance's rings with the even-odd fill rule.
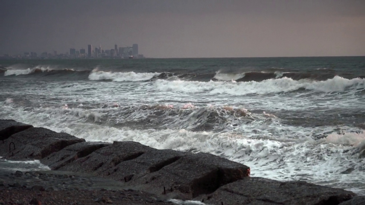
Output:
[[[4,108],[5,113],[6,109],[11,107]],[[354,145],[364,139],[363,134],[330,134],[322,140],[316,140],[312,136],[313,132],[324,133],[328,132],[327,129],[335,128],[284,126],[279,121],[266,124],[261,119],[245,125],[242,127],[245,132],[238,133],[116,128],[87,123],[85,117],[88,119],[93,114],[78,108],[48,108],[46,112],[38,109],[13,109],[9,117],[34,126],[66,132],[87,141],[135,141],[158,149],[208,152],[251,167],[251,176],[254,177],[306,180],[348,189],[351,183],[365,180],[361,174],[364,162],[358,157],[358,152],[343,152],[345,149],[357,149]],[[349,174],[341,173],[349,168],[354,170]],[[358,193],[365,193],[365,187],[357,188]]]

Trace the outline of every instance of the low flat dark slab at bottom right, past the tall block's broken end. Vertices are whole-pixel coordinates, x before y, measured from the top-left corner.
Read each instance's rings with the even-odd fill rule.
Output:
[[[338,205],[355,196],[353,192],[315,185],[303,181],[280,182],[259,177],[219,187],[212,194],[199,196],[207,204],[230,205]]]

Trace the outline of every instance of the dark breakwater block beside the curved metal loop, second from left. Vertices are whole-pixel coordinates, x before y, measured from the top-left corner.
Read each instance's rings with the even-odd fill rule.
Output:
[[[11,135],[8,141],[14,142],[16,150],[4,155],[7,159],[42,159],[63,148],[85,139],[67,133],[58,133],[42,127],[32,127]]]

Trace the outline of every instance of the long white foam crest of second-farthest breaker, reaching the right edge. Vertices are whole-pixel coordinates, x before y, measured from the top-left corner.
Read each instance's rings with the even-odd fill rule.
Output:
[[[198,81],[166,81],[157,80],[154,88],[164,92],[186,92],[210,94],[227,93],[231,95],[246,94],[267,94],[278,92],[289,92],[298,89],[307,89],[315,92],[335,92],[345,89],[364,89],[364,78],[353,78],[351,80],[335,76],[326,81],[292,80],[291,78],[269,79],[260,82],[198,82]]]

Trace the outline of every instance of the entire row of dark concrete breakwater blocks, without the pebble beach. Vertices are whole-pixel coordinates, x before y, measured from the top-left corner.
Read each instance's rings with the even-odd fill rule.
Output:
[[[1,136],[6,136],[0,156],[5,159],[40,159],[53,170],[115,179],[162,198],[224,205],[357,205],[364,200],[342,189],[249,177],[249,167],[212,154],[157,150],[138,142],[85,142],[14,120],[0,123]],[[9,153],[10,142],[15,150],[11,147]]]

